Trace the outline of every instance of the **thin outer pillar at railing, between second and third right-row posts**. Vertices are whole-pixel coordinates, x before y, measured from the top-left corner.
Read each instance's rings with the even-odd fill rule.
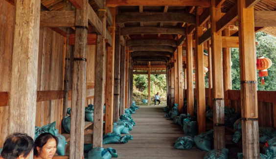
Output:
[[[210,28],[211,24],[208,21],[207,23],[207,28]],[[209,80],[209,106],[210,109],[213,109],[213,80],[212,80],[212,47],[211,45],[211,40],[207,41],[207,51],[208,51],[208,80]]]

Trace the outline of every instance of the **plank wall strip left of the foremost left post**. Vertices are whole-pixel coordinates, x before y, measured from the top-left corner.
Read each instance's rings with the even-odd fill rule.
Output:
[[[10,91],[15,8],[0,0],[0,91]],[[0,147],[3,146],[9,123],[9,107],[0,107]]]

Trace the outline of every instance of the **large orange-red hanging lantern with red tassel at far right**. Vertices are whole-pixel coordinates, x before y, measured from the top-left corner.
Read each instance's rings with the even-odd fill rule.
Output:
[[[267,69],[272,66],[272,61],[264,56],[257,57],[257,69],[259,77],[262,77],[262,85],[264,85],[264,76],[268,76]]]

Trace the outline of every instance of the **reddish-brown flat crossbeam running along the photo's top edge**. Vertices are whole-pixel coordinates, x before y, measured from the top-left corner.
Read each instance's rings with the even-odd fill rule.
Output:
[[[107,0],[108,7],[117,6],[201,6],[210,7],[209,0]]]

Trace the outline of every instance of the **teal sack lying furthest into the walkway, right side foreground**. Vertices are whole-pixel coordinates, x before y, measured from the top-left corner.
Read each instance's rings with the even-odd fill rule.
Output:
[[[189,149],[191,149],[193,147],[194,144],[195,144],[195,142],[194,142],[194,139],[192,137],[190,137],[190,136],[183,136],[183,137],[179,137],[175,141],[174,148],[189,150]]]

